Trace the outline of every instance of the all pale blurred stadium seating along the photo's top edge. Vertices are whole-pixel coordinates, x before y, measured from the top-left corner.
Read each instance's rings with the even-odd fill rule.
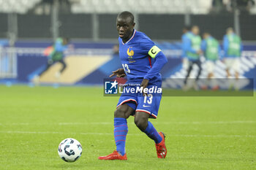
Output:
[[[59,0],[60,1],[60,0]],[[68,0],[72,13],[109,13],[114,14],[122,10],[129,10],[144,14],[207,14],[212,1],[205,0]],[[25,14],[43,0],[0,0],[0,11]],[[256,6],[251,8],[256,13]]]

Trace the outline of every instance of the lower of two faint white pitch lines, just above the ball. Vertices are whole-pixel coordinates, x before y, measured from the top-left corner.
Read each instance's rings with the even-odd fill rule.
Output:
[[[1,134],[66,134],[66,135],[111,135],[110,133],[64,133],[58,131],[0,131]],[[128,136],[140,136],[145,135],[141,134],[128,134]],[[217,135],[204,135],[204,134],[167,134],[167,136],[178,136],[178,137],[212,137],[212,138],[255,138],[256,135],[225,135],[225,134],[217,134]]]

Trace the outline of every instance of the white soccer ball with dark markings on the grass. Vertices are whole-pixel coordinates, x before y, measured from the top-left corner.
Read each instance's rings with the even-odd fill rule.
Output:
[[[75,162],[82,155],[82,145],[75,139],[61,141],[58,148],[59,157],[66,162]]]

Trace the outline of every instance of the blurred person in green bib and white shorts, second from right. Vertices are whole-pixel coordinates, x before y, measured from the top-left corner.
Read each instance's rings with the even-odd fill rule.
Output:
[[[206,58],[206,69],[208,72],[207,79],[211,79],[211,81],[206,81],[206,84],[203,85],[202,88],[207,89],[209,85],[213,90],[218,90],[219,86],[217,85],[217,81],[214,79],[214,68],[216,61],[221,56],[222,51],[219,42],[217,41],[217,39],[214,39],[211,34],[205,32],[203,33],[201,50],[203,51],[203,55]]]

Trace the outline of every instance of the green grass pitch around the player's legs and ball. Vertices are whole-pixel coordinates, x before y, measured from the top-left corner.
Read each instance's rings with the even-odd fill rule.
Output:
[[[0,169],[256,169],[256,97],[163,97],[157,120],[167,158],[129,117],[127,161],[98,161],[115,150],[118,97],[102,88],[0,86]],[[82,157],[59,158],[59,142],[78,139]]]

